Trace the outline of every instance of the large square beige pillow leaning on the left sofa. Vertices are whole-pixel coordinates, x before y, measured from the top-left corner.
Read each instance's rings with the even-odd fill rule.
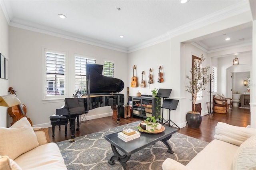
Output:
[[[10,128],[0,127],[0,155],[15,159],[39,145],[28,119],[23,117]]]

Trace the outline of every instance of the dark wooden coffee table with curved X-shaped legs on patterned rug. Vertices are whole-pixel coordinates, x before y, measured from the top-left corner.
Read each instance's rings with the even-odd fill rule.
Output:
[[[172,150],[170,144],[167,142],[172,137],[172,134],[177,132],[178,130],[172,127],[165,127],[165,130],[158,134],[149,134],[146,132],[140,132],[140,137],[136,138],[134,140],[130,140],[128,142],[124,142],[122,139],[118,138],[117,133],[112,133],[104,136],[104,138],[110,142],[112,151],[114,153],[114,156],[110,158],[108,163],[110,165],[115,164],[115,160],[118,160],[124,170],[128,170],[128,166],[126,162],[130,159],[131,155],[143,148],[146,148],[147,146],[150,146],[151,144],[155,144],[158,141],[162,141],[166,147],[168,148],[167,152],[173,154],[174,151]],[[120,151],[124,153],[124,155],[121,155],[116,148],[118,148]]]

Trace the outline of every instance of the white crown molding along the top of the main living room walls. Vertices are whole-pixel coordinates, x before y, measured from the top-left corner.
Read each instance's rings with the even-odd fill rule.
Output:
[[[72,34],[72,33],[69,33],[69,32],[64,32],[64,31],[57,30],[57,29],[54,29],[54,28],[42,26],[42,25],[39,25],[39,24],[28,23],[24,20],[10,20],[10,18],[12,18],[12,13],[9,14],[10,16],[8,15],[7,10],[6,10],[8,8],[8,5],[6,5],[4,1],[1,1],[0,5],[2,6],[2,10],[3,10],[3,12],[6,16],[6,20],[7,20],[9,26],[22,28],[22,29],[25,29],[25,30],[39,32],[39,33],[42,33],[42,34],[56,36],[56,37],[59,37],[59,38],[64,38],[64,39],[73,40],[73,41],[77,41],[77,42],[87,43],[87,44],[90,44],[90,45],[95,45],[95,46],[98,46],[98,47],[104,47],[104,48],[107,48],[107,49],[113,49],[113,50],[121,51],[121,52],[124,52],[124,53],[130,53],[130,52],[133,52],[133,51],[137,51],[139,49],[143,49],[143,48],[155,45],[157,43],[161,43],[161,42],[170,40],[170,38],[172,38],[172,37],[190,32],[192,30],[196,30],[198,28],[207,26],[209,24],[213,24],[215,22],[224,20],[226,18],[230,18],[232,16],[250,11],[249,2],[247,0],[244,0],[242,2],[234,4],[233,6],[229,6],[228,8],[224,8],[223,10],[214,12],[212,14],[204,16],[203,18],[199,18],[198,20],[195,20],[193,22],[190,22],[188,24],[185,24],[183,26],[180,26],[178,28],[170,30],[170,31],[168,31],[167,33],[165,33],[161,36],[158,36],[156,38],[153,38],[153,39],[150,39],[148,41],[145,41],[145,42],[139,43],[137,45],[133,45],[131,47],[126,48],[126,47],[122,47],[122,46],[119,46],[119,45],[114,45],[114,44],[110,44],[110,43],[107,43],[107,42],[102,42],[102,41],[99,41],[99,40],[88,38],[88,37],[85,37],[85,36],[80,36],[78,34]]]

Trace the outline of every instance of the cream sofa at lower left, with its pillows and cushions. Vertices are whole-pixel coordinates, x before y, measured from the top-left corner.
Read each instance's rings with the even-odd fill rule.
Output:
[[[23,117],[10,128],[0,127],[1,170],[67,170],[48,128],[31,127]]]

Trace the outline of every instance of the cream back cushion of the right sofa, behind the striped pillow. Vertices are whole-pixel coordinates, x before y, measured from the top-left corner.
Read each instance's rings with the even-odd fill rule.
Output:
[[[256,134],[255,128],[245,128],[218,122],[214,138],[240,146],[245,140]]]

